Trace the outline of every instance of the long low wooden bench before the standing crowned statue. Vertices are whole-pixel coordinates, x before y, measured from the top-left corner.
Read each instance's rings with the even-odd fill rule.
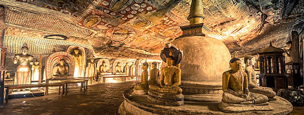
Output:
[[[9,99],[9,90],[10,89],[26,89],[26,88],[37,88],[37,87],[51,87],[51,86],[59,86],[59,95],[62,96],[63,92],[60,92],[60,87],[64,88],[65,83],[42,83],[42,84],[28,84],[28,85],[5,85],[4,88],[6,89],[5,91],[5,102],[8,103]],[[64,89],[63,89],[64,90]],[[44,95],[47,95],[48,91],[45,89],[44,90]]]

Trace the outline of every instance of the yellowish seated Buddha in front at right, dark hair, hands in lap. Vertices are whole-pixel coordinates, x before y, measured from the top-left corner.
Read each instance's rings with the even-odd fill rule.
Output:
[[[240,70],[241,60],[234,57],[229,64],[231,69],[223,73],[224,93],[219,109],[226,113],[273,110],[269,106],[267,96],[249,92],[247,74]]]

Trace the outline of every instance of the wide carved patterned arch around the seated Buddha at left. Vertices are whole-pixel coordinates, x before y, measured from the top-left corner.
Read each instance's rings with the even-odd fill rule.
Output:
[[[50,79],[53,78],[53,68],[58,64],[60,59],[65,60],[65,64],[69,67],[69,75],[74,74],[75,62],[74,57],[64,51],[54,52],[50,54],[45,61],[45,78]]]

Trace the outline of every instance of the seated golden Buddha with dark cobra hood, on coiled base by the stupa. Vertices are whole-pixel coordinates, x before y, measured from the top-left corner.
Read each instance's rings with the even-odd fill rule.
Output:
[[[164,106],[180,106],[184,104],[184,95],[181,94],[181,62],[182,52],[166,44],[161,51],[161,59],[167,63],[167,66],[161,68],[160,85],[149,85],[148,100],[152,103]]]

